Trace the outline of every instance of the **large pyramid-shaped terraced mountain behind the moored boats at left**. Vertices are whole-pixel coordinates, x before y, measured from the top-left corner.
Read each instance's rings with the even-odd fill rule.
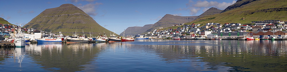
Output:
[[[60,7],[46,9],[30,22],[24,25],[52,33],[62,32],[64,35],[112,33],[100,26],[92,17],[73,4],[63,4]],[[107,36],[110,36],[109,34]]]

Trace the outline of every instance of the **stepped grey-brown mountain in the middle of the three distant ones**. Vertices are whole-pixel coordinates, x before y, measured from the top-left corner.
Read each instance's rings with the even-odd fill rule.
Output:
[[[148,30],[144,33],[152,32],[155,29],[159,29],[159,28],[170,27],[174,24],[182,24],[186,22],[191,22],[195,20],[197,17],[198,16],[174,16],[174,15],[166,14],[158,22],[156,22],[152,27],[148,28]]]

